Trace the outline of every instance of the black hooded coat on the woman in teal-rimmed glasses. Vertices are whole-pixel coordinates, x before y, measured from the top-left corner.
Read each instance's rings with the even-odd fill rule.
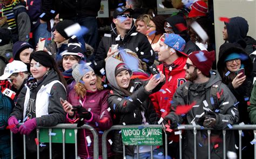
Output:
[[[239,122],[244,123],[250,123],[249,115],[247,112],[247,101],[249,101],[251,92],[252,92],[252,83],[253,83],[253,74],[252,74],[252,60],[248,57],[247,53],[241,49],[240,47],[237,47],[238,45],[232,44],[232,43],[225,43],[220,46],[219,50],[219,60],[217,64],[218,72],[223,79],[222,81],[224,84],[230,88],[230,91],[234,94],[235,98],[239,101],[238,103],[238,110],[239,110]],[[243,59],[241,60],[241,64],[244,65],[245,68],[245,75],[246,80],[244,83],[238,87],[234,88],[232,85],[232,81],[227,81],[227,76],[225,75],[227,73],[226,68],[226,57],[233,53],[239,53],[243,55]],[[237,75],[235,72],[234,75]]]

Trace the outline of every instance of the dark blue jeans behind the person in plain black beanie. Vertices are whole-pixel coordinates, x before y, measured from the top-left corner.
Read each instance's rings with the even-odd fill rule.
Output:
[[[84,41],[86,44],[89,44],[93,49],[97,49],[97,40],[98,40],[98,24],[96,17],[80,17],[73,18],[74,22],[79,23],[82,26],[85,26],[89,31],[84,35]]]

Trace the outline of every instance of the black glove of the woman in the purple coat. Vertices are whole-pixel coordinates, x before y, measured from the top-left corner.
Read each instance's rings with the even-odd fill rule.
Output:
[[[77,122],[77,127],[81,127],[84,125],[84,119],[90,120],[92,117],[91,112],[88,112],[88,110],[82,106],[73,106],[72,111],[77,112],[80,118]]]

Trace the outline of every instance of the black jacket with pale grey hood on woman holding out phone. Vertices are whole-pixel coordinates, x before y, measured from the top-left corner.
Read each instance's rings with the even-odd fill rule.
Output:
[[[106,75],[113,92],[110,93],[107,99],[114,113],[113,125],[123,125],[123,123],[125,123],[125,125],[141,125],[143,124],[142,112],[145,112],[144,116],[147,123],[150,125],[157,124],[159,117],[148,97],[151,93],[159,91],[164,82],[160,83],[152,92],[147,92],[144,87],[148,81],[132,79],[130,80],[130,85],[134,84],[134,89],[129,96],[120,90],[114,75],[114,68],[120,63],[122,63],[122,61],[109,58],[107,59],[108,65],[106,65]],[[131,88],[132,86],[127,90],[131,90]],[[112,142],[112,150],[115,153],[123,154],[122,134],[119,133],[119,130],[114,131]],[[134,146],[125,146],[126,155],[133,156],[135,148]]]

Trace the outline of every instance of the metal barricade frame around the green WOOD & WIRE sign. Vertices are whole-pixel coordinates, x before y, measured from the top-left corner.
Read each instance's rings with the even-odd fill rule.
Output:
[[[107,159],[107,134],[112,130],[120,130],[122,128],[136,128],[139,126],[143,126],[145,128],[161,128],[164,129],[163,125],[116,125],[112,126],[109,130],[105,130],[102,135],[102,157],[103,159]],[[123,146],[123,157],[125,158],[125,146]],[[167,134],[165,133],[165,159],[167,159]],[[137,158],[139,158],[139,146],[137,146]],[[153,146],[151,146],[151,159],[153,159]]]

